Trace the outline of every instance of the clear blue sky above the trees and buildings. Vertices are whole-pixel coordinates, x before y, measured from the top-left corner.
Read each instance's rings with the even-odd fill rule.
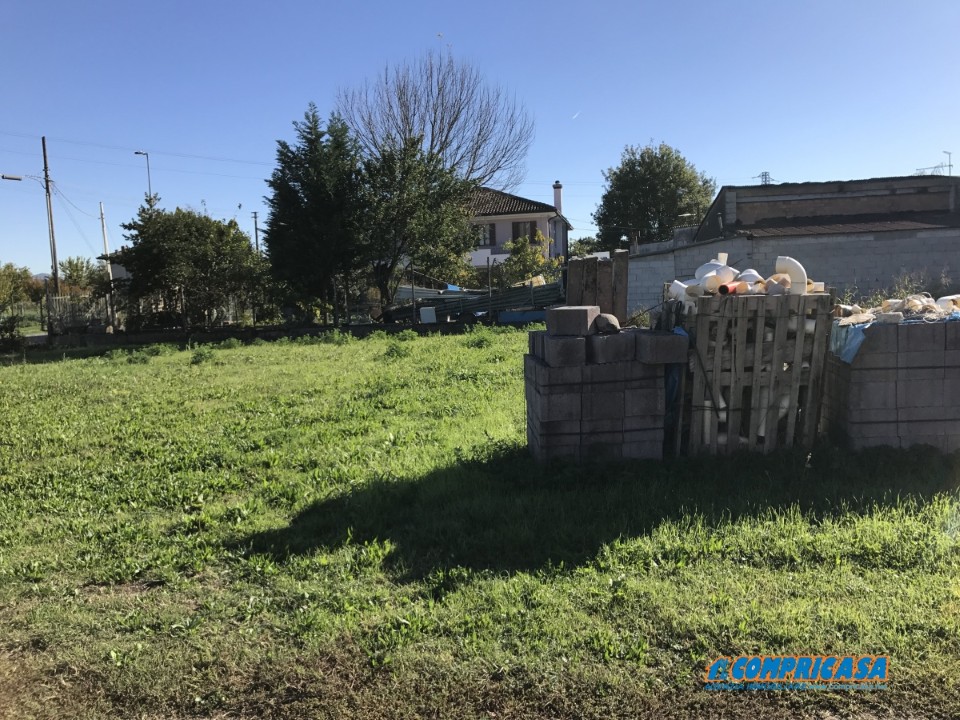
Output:
[[[0,172],[42,175],[47,136],[61,259],[99,254],[100,201],[122,242],[147,186],[134,150],[163,207],[252,235],[307,103],[325,116],[338,88],[449,48],[534,115],[516,192],[551,202],[561,180],[579,237],[627,144],[667,142],[720,185],[960,165],[958,33],[956,0],[6,0]],[[0,182],[4,262],[50,268],[29,179]]]

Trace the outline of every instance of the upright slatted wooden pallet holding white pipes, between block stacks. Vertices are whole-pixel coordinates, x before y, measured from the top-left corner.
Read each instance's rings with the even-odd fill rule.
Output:
[[[698,299],[691,454],[813,444],[832,307],[825,293]]]

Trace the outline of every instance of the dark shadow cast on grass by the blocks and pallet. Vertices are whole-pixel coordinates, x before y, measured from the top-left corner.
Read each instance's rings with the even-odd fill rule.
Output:
[[[798,506],[815,517],[920,503],[960,486],[960,453],[932,448],[540,466],[525,448],[487,447],[424,477],[379,481],[315,503],[238,547],[278,561],[390,540],[401,581],[455,567],[536,571],[589,561],[606,543],[700,515],[707,525]]]

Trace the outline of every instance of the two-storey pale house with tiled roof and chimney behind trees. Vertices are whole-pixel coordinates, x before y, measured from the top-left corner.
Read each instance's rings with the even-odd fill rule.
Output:
[[[569,232],[573,226],[562,214],[563,186],[553,184],[553,205],[529,200],[500,190],[479,188],[473,196],[473,224],[479,228],[480,241],[470,253],[474,267],[501,263],[507,259],[506,244],[520,237],[533,239],[537,230],[550,239],[549,256],[565,257]]]

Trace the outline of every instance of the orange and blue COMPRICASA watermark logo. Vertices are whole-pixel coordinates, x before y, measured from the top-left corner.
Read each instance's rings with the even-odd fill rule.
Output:
[[[886,690],[886,655],[740,655],[707,665],[707,690]]]

